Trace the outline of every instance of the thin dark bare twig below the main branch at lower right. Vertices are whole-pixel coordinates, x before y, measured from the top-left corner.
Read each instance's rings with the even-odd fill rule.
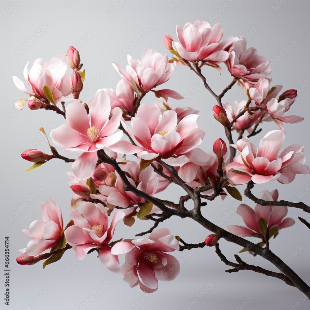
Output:
[[[230,267],[233,267],[233,269],[225,270],[225,272],[230,273],[230,272],[238,272],[239,270],[252,270],[254,272],[263,273],[264,275],[268,277],[278,278],[284,281],[286,284],[295,287],[294,283],[290,281],[290,279],[286,277],[286,275],[284,275],[283,273],[273,272],[273,271],[269,271],[267,269],[261,268],[259,266],[249,265],[245,263],[244,261],[242,261],[242,259],[238,255],[235,255],[235,259],[237,263],[230,262],[219,249],[218,243],[215,245],[215,253],[219,256],[222,262],[224,262],[226,265]]]

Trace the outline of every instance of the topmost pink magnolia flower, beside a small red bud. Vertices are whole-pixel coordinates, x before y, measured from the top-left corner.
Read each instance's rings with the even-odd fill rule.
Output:
[[[206,21],[197,20],[193,24],[187,23],[184,27],[176,26],[179,42],[172,42],[173,49],[185,60],[207,61],[218,64],[228,59],[227,50],[239,38],[229,37],[220,43],[223,37],[223,28],[215,24],[212,28]]]

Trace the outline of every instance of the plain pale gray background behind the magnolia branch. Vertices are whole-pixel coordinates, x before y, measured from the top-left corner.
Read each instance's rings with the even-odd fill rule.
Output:
[[[250,271],[225,273],[224,270],[228,269],[228,266],[219,260],[214,248],[175,253],[182,262],[180,275],[173,282],[160,282],[158,291],[150,295],[144,295],[139,287],[129,288],[122,280],[122,276],[105,269],[95,258],[94,253],[77,262],[75,253],[68,251],[59,262],[47,266],[44,271],[40,263],[34,266],[17,265],[15,263],[15,257],[18,256],[17,249],[25,247],[29,241],[21,232],[21,228],[28,229],[33,220],[41,219],[40,202],[49,196],[55,199],[62,208],[66,224],[72,193],[68,187],[69,179],[65,174],[65,170],[69,170],[70,166],[58,160],[53,160],[37,170],[24,172],[30,164],[21,159],[22,151],[29,148],[49,151],[47,142],[38,128],[44,126],[50,132],[52,128],[63,124],[64,119],[51,111],[30,111],[27,107],[22,111],[16,111],[15,101],[26,96],[23,97],[24,94],[14,86],[11,76],[16,75],[24,80],[23,68],[28,60],[30,64],[40,57],[48,61],[57,54],[65,54],[68,47],[73,45],[79,49],[83,69],[86,69],[81,98],[88,100],[95,95],[98,88],[115,89],[120,77],[111,62],[125,66],[126,57],[121,54],[124,50],[128,50],[134,40],[137,40],[138,44],[129,53],[133,58],[140,58],[144,47],[156,48],[165,54],[167,50],[163,44],[164,35],[169,34],[176,39],[175,25],[183,27],[186,22],[195,20],[207,20],[211,24],[220,23],[224,28],[224,38],[231,35],[245,35],[249,47],[256,47],[259,54],[266,55],[269,59],[278,59],[277,63],[272,62],[273,85],[282,84],[284,90],[299,89],[299,98],[287,115],[298,114],[304,116],[305,121],[297,125],[284,124],[287,132],[284,144],[285,146],[293,143],[304,144],[305,154],[309,157],[309,2],[122,0],[121,7],[113,15],[108,16],[106,14],[110,14],[115,3],[120,1],[14,1],[5,0],[0,5],[3,145],[0,170],[2,193],[0,230],[3,240],[4,236],[10,237],[11,309],[74,310],[83,309],[83,303],[87,309],[124,310],[189,309],[191,305],[197,310],[263,307],[283,310],[308,309],[310,302],[305,301],[302,293],[278,279],[268,279],[264,275]],[[7,6],[11,6],[11,11]],[[210,20],[209,17],[215,19]],[[141,37],[139,34],[144,32],[149,24],[153,29],[145,37]],[[40,33],[38,29],[41,28]],[[21,51],[21,46],[24,46],[31,37],[35,40]],[[288,48],[290,49],[288,51],[286,47],[290,43],[292,47]],[[211,68],[204,68],[203,72],[216,93],[222,91],[231,81],[224,67],[221,75]],[[104,78],[101,78],[102,76]],[[194,73],[185,67],[176,67],[163,88],[172,88],[187,97],[187,100],[179,103],[170,100],[172,105],[199,108],[201,113],[199,126],[207,132],[202,148],[209,151],[213,141],[219,136],[224,138],[224,133],[221,126],[213,122],[210,113],[215,100],[201,85]],[[232,102],[233,98],[240,99],[241,94],[241,89],[235,86],[224,99]],[[154,100],[154,95],[150,93],[144,102],[153,103]],[[253,139],[254,143],[258,145],[259,139],[272,129],[277,129],[274,123],[265,124],[263,132]],[[235,136],[234,138],[236,139]],[[278,188],[281,198],[293,201],[299,200],[301,195],[299,192],[303,191],[303,201],[309,204],[309,182],[309,176],[297,175],[290,185],[281,185],[273,181],[255,186],[254,192],[258,193],[265,188],[269,190]],[[241,191],[242,188],[240,187]],[[35,194],[37,191],[41,193]],[[171,186],[160,197],[165,199],[173,196],[177,201],[177,197],[181,194],[183,192],[179,188]],[[35,199],[31,198],[31,195],[34,195]],[[14,212],[24,203],[27,207],[18,212],[16,218],[10,220]],[[254,207],[252,202],[248,204]],[[241,218],[236,214],[237,206],[238,203],[229,197],[224,202],[216,199],[204,207],[203,213],[211,221],[221,223],[222,227],[226,228],[228,224],[242,224]],[[310,283],[309,231],[298,221],[298,215],[309,220],[309,216],[302,211],[290,210],[289,216],[296,220],[296,224],[293,228],[280,231],[277,239],[271,240],[270,246],[306,282]],[[119,223],[115,240],[120,237],[131,238],[135,233],[147,230],[150,225],[150,222],[138,221],[136,225],[128,228]],[[209,233],[189,219],[169,219],[160,227],[168,227],[173,234],[181,236],[187,242],[201,242]],[[4,244],[4,241],[2,242]],[[228,244],[224,240],[220,244],[230,260],[233,260],[233,254],[240,250],[240,247]],[[298,250],[298,247],[301,250]],[[4,255],[3,250],[1,253]],[[273,265],[260,257],[253,257],[248,253],[242,257],[248,263],[276,270]],[[66,268],[68,272],[65,272]],[[4,293],[2,280],[1,296]],[[104,283],[109,282],[111,283],[102,290]],[[205,293],[202,293],[204,295],[200,294],[199,292],[204,289]],[[93,300],[88,305],[85,304],[85,299]],[[198,303],[194,304],[193,299],[197,299]],[[2,305],[4,300],[1,299],[0,303]]]

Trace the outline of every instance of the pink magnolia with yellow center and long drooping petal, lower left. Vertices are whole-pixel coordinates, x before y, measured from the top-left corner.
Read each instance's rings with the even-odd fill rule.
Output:
[[[78,260],[84,259],[89,250],[100,248],[98,254],[100,262],[112,272],[118,273],[121,265],[117,255],[111,254],[111,247],[108,244],[113,238],[116,224],[125,216],[125,212],[117,210],[108,228],[108,211],[104,205],[84,202],[81,210],[85,219],[78,210],[73,210],[69,215],[74,225],[64,232],[67,242],[73,247]]]

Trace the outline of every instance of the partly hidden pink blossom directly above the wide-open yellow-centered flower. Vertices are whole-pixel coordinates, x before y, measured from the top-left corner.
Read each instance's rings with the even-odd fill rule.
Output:
[[[110,97],[111,111],[113,108],[119,107],[125,112],[124,117],[132,112],[135,101],[134,88],[126,78],[122,78],[117,83],[115,91],[112,88],[103,88],[102,90],[106,91]]]

